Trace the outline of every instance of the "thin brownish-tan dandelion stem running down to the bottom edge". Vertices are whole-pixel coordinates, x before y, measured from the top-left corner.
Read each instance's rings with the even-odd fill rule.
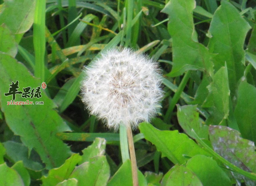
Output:
[[[134,142],[133,142],[133,133],[130,126],[127,126],[127,137],[128,137],[128,144],[129,144],[130,157],[131,157],[131,163],[132,163],[133,186],[139,186],[137,163],[136,163],[136,156],[135,156],[135,149],[134,149]]]

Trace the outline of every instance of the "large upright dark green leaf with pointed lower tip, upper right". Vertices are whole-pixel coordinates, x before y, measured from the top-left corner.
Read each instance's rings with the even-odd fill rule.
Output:
[[[209,28],[209,51],[216,53],[213,58],[215,70],[227,64],[231,95],[235,94],[236,83],[243,76],[243,50],[246,33],[250,26],[228,1],[216,10]]]

